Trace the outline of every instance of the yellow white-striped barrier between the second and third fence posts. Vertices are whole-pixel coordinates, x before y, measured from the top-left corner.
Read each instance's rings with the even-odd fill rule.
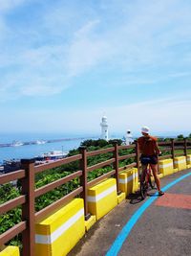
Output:
[[[88,211],[96,220],[117,206],[117,181],[108,178],[88,190]]]

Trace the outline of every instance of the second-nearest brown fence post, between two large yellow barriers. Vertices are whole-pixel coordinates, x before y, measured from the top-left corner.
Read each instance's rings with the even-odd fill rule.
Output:
[[[81,193],[81,197],[84,199],[84,214],[85,221],[87,221],[91,217],[91,215],[88,213],[88,173],[86,147],[80,147],[79,151],[82,154],[82,159],[80,161],[80,169],[82,170],[82,176],[80,176],[80,185],[83,187],[83,192]]]

